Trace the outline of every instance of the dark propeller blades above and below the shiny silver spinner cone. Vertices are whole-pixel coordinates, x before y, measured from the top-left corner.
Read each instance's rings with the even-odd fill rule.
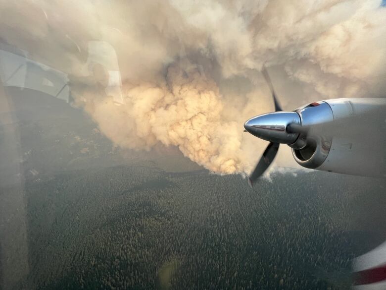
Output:
[[[263,74],[263,76],[268,84],[268,87],[271,91],[272,99],[274,100],[274,103],[275,103],[275,112],[283,111],[282,107],[280,106],[280,104],[276,98],[275,90],[273,88],[271,78],[268,75],[267,69],[265,67],[263,67],[261,73]],[[273,160],[276,157],[276,154],[278,153],[279,145],[280,145],[280,143],[275,143],[275,142],[270,142],[268,144],[267,148],[265,149],[265,151],[263,153],[263,156],[260,158],[255,169],[248,177],[248,182],[249,182],[249,185],[251,187],[253,186],[253,183],[268,169],[270,164],[273,162]]]

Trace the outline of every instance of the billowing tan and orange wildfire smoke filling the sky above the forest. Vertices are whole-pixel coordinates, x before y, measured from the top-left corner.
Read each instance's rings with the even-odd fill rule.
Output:
[[[385,90],[380,0],[2,0],[0,11],[1,40],[70,74],[74,104],[115,144],[177,146],[216,173],[248,172],[264,150],[242,132],[273,110],[263,65],[288,110]],[[88,67],[94,89],[79,85],[90,41],[117,54],[121,106],[95,89],[103,68]]]

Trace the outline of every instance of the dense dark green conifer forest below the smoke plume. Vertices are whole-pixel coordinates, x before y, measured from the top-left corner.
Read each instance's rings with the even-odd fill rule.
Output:
[[[363,251],[350,223],[355,204],[383,184],[321,173],[271,178],[250,189],[240,175],[117,166],[30,180],[27,283],[349,289],[351,260]]]

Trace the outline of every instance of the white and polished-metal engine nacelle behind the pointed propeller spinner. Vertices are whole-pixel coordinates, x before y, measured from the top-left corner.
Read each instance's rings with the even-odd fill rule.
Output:
[[[297,110],[302,127],[290,144],[295,161],[310,169],[386,177],[386,99],[334,99]]]

